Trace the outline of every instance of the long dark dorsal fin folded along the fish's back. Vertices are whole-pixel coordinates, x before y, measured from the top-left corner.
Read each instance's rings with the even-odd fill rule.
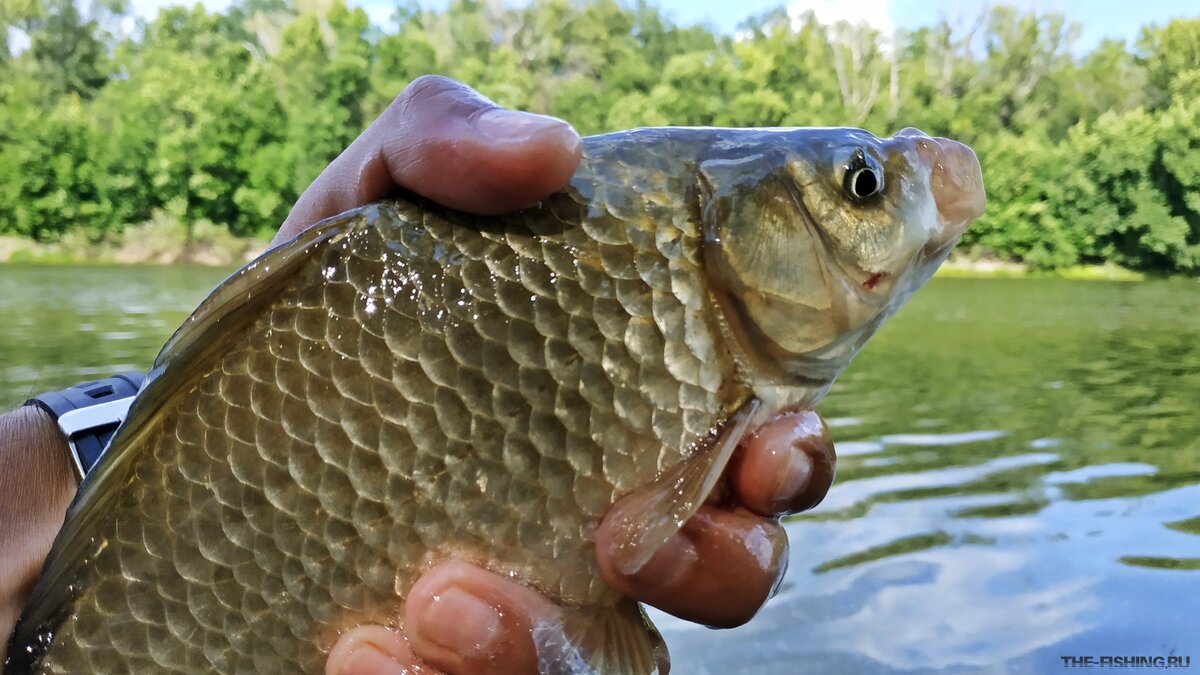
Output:
[[[132,471],[145,435],[152,430],[155,414],[186,394],[200,369],[210,365],[222,345],[215,338],[235,333],[257,318],[317,251],[370,222],[370,214],[364,213],[367,209],[322,221],[268,250],[223,281],[167,341],[108,450],[67,508],[62,530],[13,632],[12,645],[32,644],[38,631],[59,619],[56,613],[70,601],[67,593],[78,567],[96,550],[94,525],[110,516],[110,506]]]

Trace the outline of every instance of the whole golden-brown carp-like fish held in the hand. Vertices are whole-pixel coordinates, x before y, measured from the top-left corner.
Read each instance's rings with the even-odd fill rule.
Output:
[[[325,220],[166,344],[5,673],[323,673],[450,558],[565,608],[544,673],[666,673],[599,519],[647,496],[618,534],[644,563],[983,208],[974,154],[917,130],[661,127],[586,138],[514,214],[398,192]]]

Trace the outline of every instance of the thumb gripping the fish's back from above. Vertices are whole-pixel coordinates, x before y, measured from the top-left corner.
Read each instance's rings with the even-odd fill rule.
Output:
[[[397,185],[455,209],[512,211],[565,185],[581,151],[580,136],[562,120],[421,77],[305,190],[275,243]]]

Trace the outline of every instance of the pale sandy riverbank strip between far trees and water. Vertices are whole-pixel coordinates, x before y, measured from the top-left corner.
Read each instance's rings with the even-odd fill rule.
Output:
[[[71,233],[60,241],[41,244],[19,237],[0,237],[0,263],[34,264],[175,264],[230,267],[250,262],[268,246],[264,239],[240,238],[211,223],[196,223],[191,232],[170,219],[126,228],[101,240]],[[1117,265],[1075,265],[1040,270],[1008,261],[950,256],[937,276],[952,279],[1052,277],[1099,281],[1141,281],[1146,274]]]

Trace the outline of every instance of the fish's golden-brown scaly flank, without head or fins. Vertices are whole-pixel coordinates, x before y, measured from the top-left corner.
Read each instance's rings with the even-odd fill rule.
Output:
[[[350,216],[143,437],[40,668],[323,673],[448,555],[613,604],[598,516],[739,394],[689,190],[638,162]]]

